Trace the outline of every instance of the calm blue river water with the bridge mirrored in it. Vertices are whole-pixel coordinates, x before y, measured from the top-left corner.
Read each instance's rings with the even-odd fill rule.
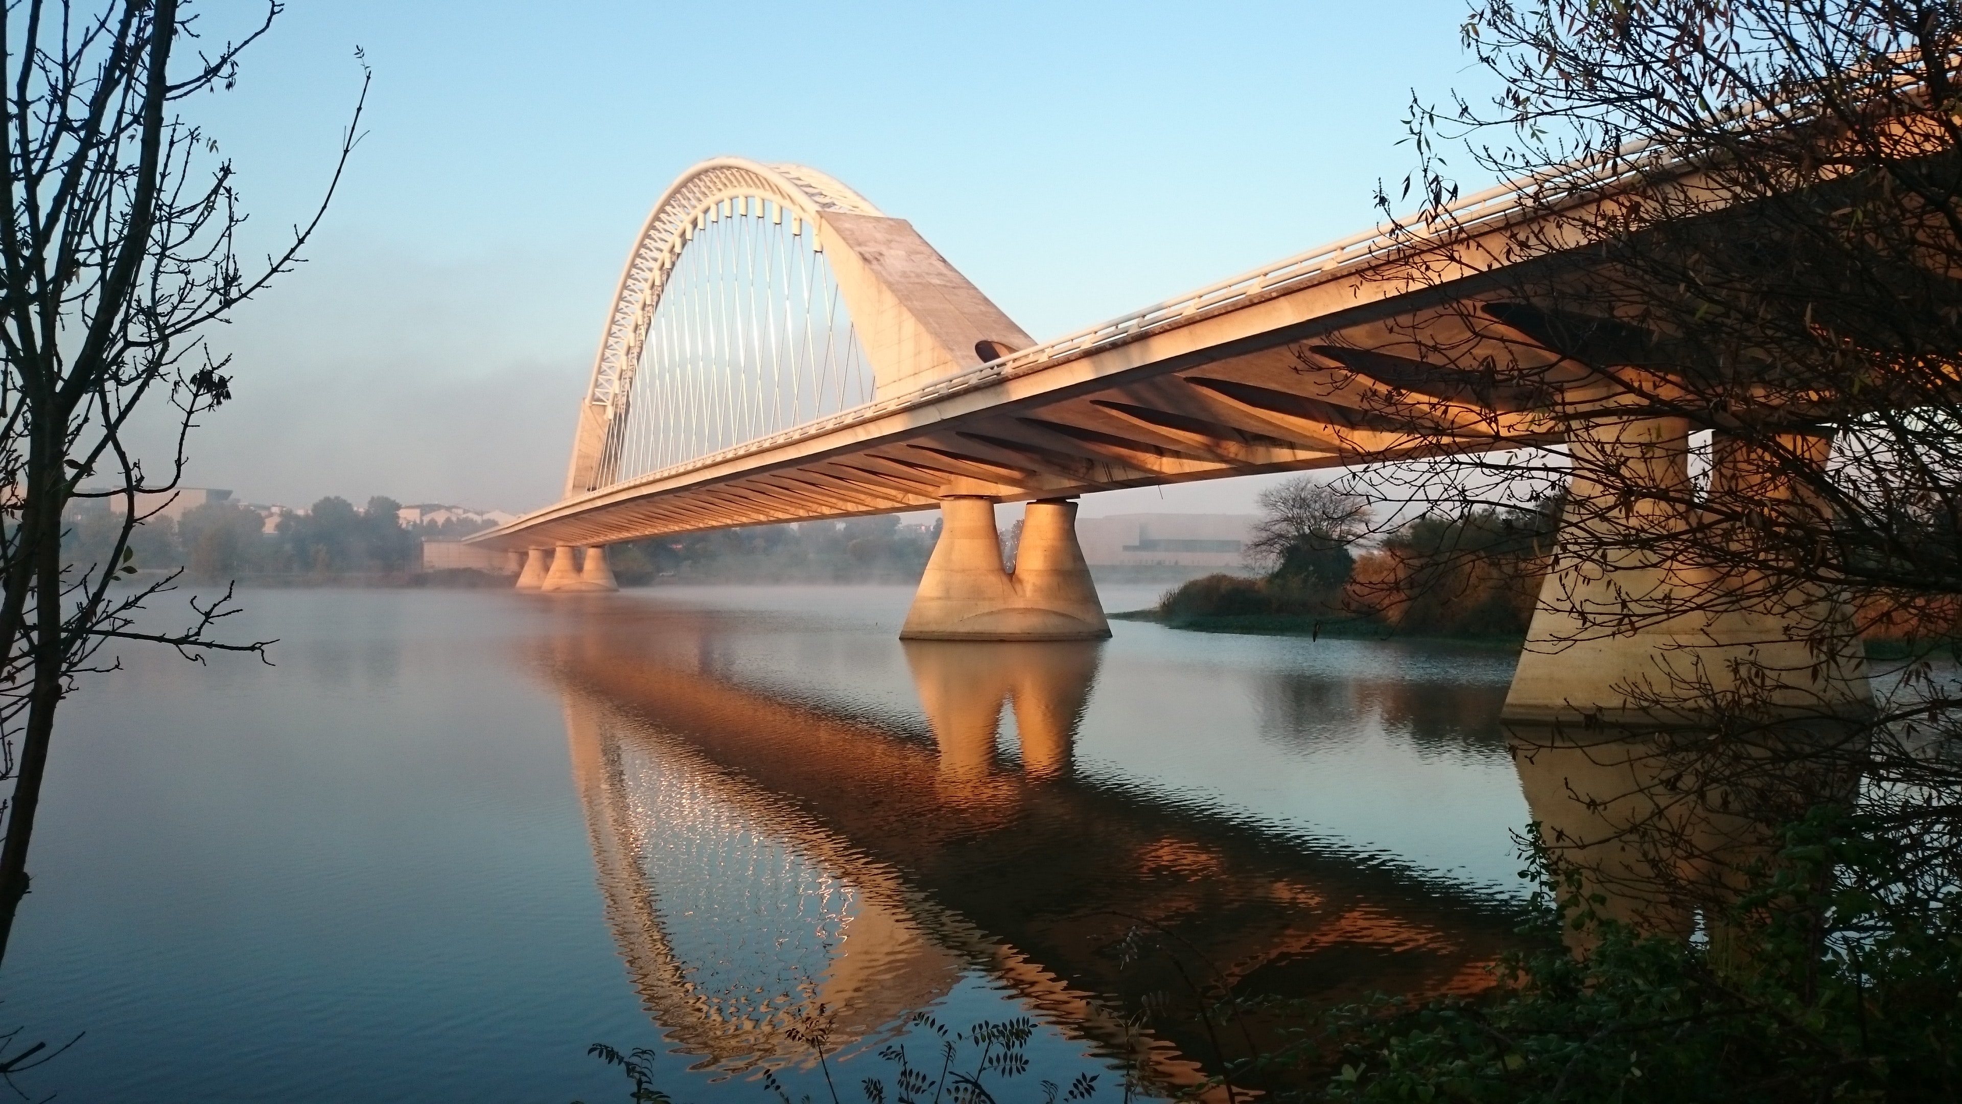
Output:
[[[1213,1063],[1181,968],[1428,992],[1509,939],[1507,650],[901,644],[908,587],[247,597],[277,666],[133,652],[69,707],[0,1018],[86,1035],[31,1088],[614,1100],[608,1041],[685,1102],[822,1098],[783,1033],[822,1004],[846,1098],[924,1010],[1034,1018],[1012,1096],[1116,1100],[1122,1055]]]

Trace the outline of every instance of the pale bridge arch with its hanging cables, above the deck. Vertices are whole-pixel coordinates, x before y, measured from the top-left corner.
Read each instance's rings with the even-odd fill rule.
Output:
[[[1028,336],[912,228],[802,165],[702,161],[628,255],[567,497],[981,363]]]

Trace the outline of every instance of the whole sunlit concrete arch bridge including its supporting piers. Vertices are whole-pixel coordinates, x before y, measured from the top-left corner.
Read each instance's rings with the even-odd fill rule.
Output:
[[[1499,187],[1454,206],[1456,259],[1422,279],[1397,238],[1368,232],[1038,344],[840,181],[704,161],[628,255],[563,499],[471,540],[522,554],[520,589],[565,593],[612,589],[604,546],[622,540],[940,509],[903,636],[1081,640],[1109,635],[1075,542],[1083,493],[1544,444],[1687,481],[1687,422],[1603,405],[1589,387],[1613,373],[1613,342],[1519,299],[1509,234],[1530,218]],[[1438,348],[1558,389],[1511,393],[1426,359]],[[1575,483],[1570,503],[1589,493],[1605,491]],[[1007,501],[1028,503],[1012,574],[993,521]],[[1795,672],[1795,699],[1866,701],[1862,660],[1815,662],[1780,615],[1575,629],[1589,603],[1666,605],[1668,566],[1556,558],[1544,585],[1528,638],[1560,646],[1528,644],[1511,719],[1632,711],[1630,680],[1676,654],[1725,670],[1725,650]]]

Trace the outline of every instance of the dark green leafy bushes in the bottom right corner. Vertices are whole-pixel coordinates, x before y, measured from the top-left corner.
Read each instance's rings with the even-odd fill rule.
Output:
[[[1907,833],[1819,807],[1783,829],[1723,939],[1642,935],[1587,913],[1585,961],[1513,955],[1477,998],[1334,1016],[1328,1100],[1935,1100],[1962,1086],[1962,888],[1919,886]],[[1585,904],[1534,851],[1536,925]]]

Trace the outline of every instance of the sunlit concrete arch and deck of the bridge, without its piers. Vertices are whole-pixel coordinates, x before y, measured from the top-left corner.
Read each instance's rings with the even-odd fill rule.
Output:
[[[626,395],[667,279],[695,228],[738,200],[802,218],[822,240],[875,397],[657,471],[622,471],[634,416]],[[1513,200],[1493,193],[1475,202],[1499,212]],[[1377,414],[1413,387],[1448,397],[1426,399],[1426,420],[1452,436],[1452,450],[1552,442],[1558,422],[1532,409],[1479,409],[1462,399],[1464,381],[1450,369],[1413,359],[1413,334],[1472,359],[1491,342],[1493,356],[1526,369],[1562,359],[1513,330],[1483,332],[1497,324],[1466,328],[1466,306],[1475,316],[1481,297],[1503,291],[1483,263],[1503,263],[1503,226],[1479,222],[1466,263],[1430,273],[1438,287],[1385,271],[1395,249],[1371,232],[1034,346],[908,224],[836,179],[797,165],[704,161],[663,193],[614,293],[565,499],[469,540],[610,544],[926,509],[961,495],[1042,501],[1340,468],[1362,452],[1393,460],[1436,450]],[[730,375],[730,385],[771,379]]]

